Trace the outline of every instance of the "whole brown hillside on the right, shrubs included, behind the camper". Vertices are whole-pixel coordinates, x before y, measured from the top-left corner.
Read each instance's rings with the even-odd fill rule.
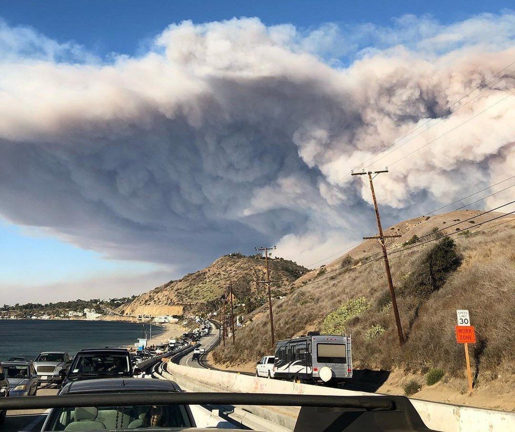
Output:
[[[415,218],[385,230],[402,235],[388,244],[406,335],[402,348],[381,255],[369,257],[380,250],[375,240],[366,240],[327,266],[304,274],[295,283],[297,289],[274,301],[276,340],[309,330],[351,333],[355,368],[401,370],[402,376],[410,372],[420,383],[427,371],[438,368],[445,379],[458,379],[459,391],[464,391],[464,352],[455,341],[454,325],[456,309],[469,309],[477,337],[477,343],[470,345],[476,385],[512,376],[515,218],[505,216],[471,228],[501,216],[478,217],[478,213]],[[507,223],[493,227],[501,222]],[[414,237],[425,234],[429,236],[422,240]],[[433,241],[422,244],[429,239]],[[400,251],[406,247],[410,249]],[[267,310],[260,307],[236,333],[235,347],[219,347],[214,361],[234,367],[269,354],[269,335],[263,331],[267,327]]]

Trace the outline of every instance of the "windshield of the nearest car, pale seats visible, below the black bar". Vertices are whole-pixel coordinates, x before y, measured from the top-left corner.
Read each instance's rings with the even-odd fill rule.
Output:
[[[43,430],[129,430],[190,427],[183,405],[56,408]]]

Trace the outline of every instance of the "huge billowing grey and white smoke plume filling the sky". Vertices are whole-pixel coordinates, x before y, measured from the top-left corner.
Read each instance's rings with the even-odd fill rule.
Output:
[[[267,243],[310,264],[375,231],[367,185],[348,172],[417,126],[438,122],[366,164],[390,168],[376,184],[386,222],[515,171],[515,99],[493,105],[513,67],[487,81],[515,60],[514,22],[184,22],[108,63],[3,24],[0,212],[182,271]]]

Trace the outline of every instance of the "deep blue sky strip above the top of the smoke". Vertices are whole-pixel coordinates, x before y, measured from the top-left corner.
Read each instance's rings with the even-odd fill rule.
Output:
[[[11,25],[32,26],[59,42],[74,40],[99,55],[132,55],[145,40],[183,20],[258,16],[267,25],[291,23],[306,29],[328,22],[389,25],[405,14],[430,14],[448,24],[511,6],[506,0],[4,0],[0,15]]]

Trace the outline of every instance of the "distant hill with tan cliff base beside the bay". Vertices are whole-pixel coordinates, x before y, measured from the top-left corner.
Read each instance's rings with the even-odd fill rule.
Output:
[[[269,266],[273,280],[276,281],[272,284],[274,296],[289,292],[291,283],[307,271],[306,268],[282,258],[271,257]],[[265,301],[264,285],[256,288],[255,283],[265,278],[264,257],[233,253],[218,258],[209,267],[136,297],[132,302],[119,307],[117,312],[125,316],[211,312],[218,307],[217,300],[226,289],[229,280],[233,284],[236,302],[245,303],[251,310]]]

